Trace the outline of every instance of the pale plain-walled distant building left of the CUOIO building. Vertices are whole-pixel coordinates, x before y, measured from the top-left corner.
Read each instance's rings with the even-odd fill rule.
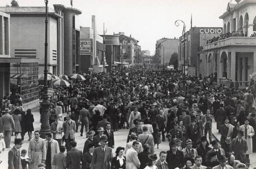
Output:
[[[168,65],[173,53],[178,53],[179,39],[162,38],[156,42],[156,54],[159,57],[159,64]],[[163,53],[164,48],[164,53]]]

